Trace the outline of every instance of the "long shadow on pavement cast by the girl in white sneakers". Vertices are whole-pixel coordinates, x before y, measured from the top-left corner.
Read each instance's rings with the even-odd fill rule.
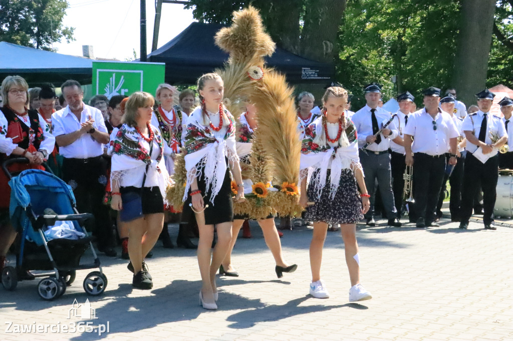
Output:
[[[318,311],[327,311],[331,309],[337,309],[342,307],[348,307],[353,309],[365,310],[368,307],[358,304],[358,303],[347,303],[343,305],[334,305],[334,306],[326,306],[326,305],[307,305],[307,306],[299,306],[301,303],[306,300],[318,300],[314,299],[310,295],[306,295],[304,297],[300,297],[299,299],[294,299],[289,301],[285,305],[269,305],[264,306],[262,308],[244,310],[238,313],[235,313],[227,318],[227,321],[233,322],[229,325],[229,328],[233,329],[243,329],[243,328],[251,328],[255,324],[266,321],[280,321],[280,319],[288,318],[291,316],[297,316],[302,314],[308,314],[311,312]]]

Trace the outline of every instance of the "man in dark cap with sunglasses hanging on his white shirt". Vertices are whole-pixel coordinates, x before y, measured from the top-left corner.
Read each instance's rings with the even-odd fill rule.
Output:
[[[411,115],[404,130],[406,164],[413,165],[417,227],[421,228],[439,226],[435,210],[445,173],[445,153],[450,146],[449,164],[455,165],[459,136],[450,115],[438,108],[440,89],[430,87],[423,94],[425,108]]]

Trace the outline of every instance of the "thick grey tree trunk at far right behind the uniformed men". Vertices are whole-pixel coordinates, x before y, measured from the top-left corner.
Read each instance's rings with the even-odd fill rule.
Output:
[[[461,29],[452,79],[458,99],[467,106],[476,102],[474,94],[486,86],[495,3],[494,0],[462,1]]]

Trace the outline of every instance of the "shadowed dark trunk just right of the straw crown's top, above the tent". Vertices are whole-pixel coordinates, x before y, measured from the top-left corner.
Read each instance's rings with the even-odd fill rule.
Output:
[[[299,20],[303,8],[297,0],[280,0],[260,10],[267,32],[281,48],[300,54]]]

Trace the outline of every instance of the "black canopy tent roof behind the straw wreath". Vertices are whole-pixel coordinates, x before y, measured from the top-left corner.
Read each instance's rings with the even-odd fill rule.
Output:
[[[167,82],[195,83],[202,74],[223,67],[228,59],[228,54],[214,44],[214,35],[222,27],[192,23],[166,45],[148,54],[148,61],[166,63]],[[266,62],[283,72],[290,83],[325,83],[334,76],[333,65],[309,60],[279,47]]]

